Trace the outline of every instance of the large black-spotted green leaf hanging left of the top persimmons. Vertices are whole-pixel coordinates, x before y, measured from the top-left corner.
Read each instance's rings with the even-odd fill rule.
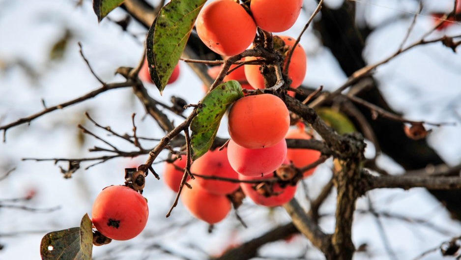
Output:
[[[150,77],[160,94],[181,57],[195,20],[206,0],[172,0],[149,29],[146,54]]]

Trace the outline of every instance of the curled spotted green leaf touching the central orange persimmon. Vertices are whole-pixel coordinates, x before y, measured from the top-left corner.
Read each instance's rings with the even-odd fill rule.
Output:
[[[237,81],[223,83],[209,92],[197,109],[191,122],[192,159],[197,160],[213,144],[221,118],[237,99],[243,97],[242,87]]]

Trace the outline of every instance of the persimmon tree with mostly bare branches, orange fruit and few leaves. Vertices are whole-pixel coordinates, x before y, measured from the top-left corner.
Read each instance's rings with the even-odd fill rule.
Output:
[[[450,22],[459,26],[454,22],[459,16],[457,0],[453,2],[451,12],[434,15],[435,23],[421,37],[413,40],[410,35],[424,6],[424,2],[416,1],[419,2],[419,7],[413,12],[400,47],[391,55],[370,64],[364,60],[362,53],[365,39],[374,28],[357,25],[358,3],[355,1],[344,1],[338,8],[325,5],[323,0],[316,2],[316,8],[309,10],[307,22],[302,31],[298,32],[297,38],[277,36],[261,29],[275,27],[274,32],[286,30],[296,21],[296,18],[291,17],[287,19],[290,25],[282,26],[280,23],[284,23],[283,19],[279,21],[265,18],[264,12],[270,8],[264,4],[276,4],[271,0],[267,0],[267,3],[264,0],[252,0],[254,4],[252,1],[208,1],[209,5],[205,4],[206,0],[172,0],[152,6],[144,0],[93,0],[93,10],[99,22],[109,20],[108,14],[117,8],[123,9],[127,17],[148,29],[143,38],[145,52],[140,54],[138,65],[127,67],[120,64],[115,73],[121,75],[124,81],[107,83],[91,68],[91,61],[84,56],[80,45],[82,58],[101,87],[67,102],[45,106],[36,114],[0,125],[4,141],[7,140],[7,131],[21,124],[39,120],[43,115],[82,103],[113,89],[131,87],[134,95],[143,104],[146,115],[156,121],[165,132],[164,136],[154,140],[140,137],[137,134],[139,129],[134,114],[130,122],[133,133],[121,134],[109,126],[103,126],[99,120],[85,113],[86,119],[95,128],[125,141],[135,150],[119,149],[79,124],[83,134],[105,144],[105,147],[90,148],[90,152],[102,152],[104,155],[27,160],[67,162],[68,167],[61,167],[61,172],[64,177],[70,178],[82,171],[81,167],[86,163],[92,163],[87,167],[89,168],[112,159],[144,156],[144,163],[134,168],[122,169],[125,176],[120,177],[120,182],[114,185],[124,183],[122,190],[136,194],[136,199],[143,202],[141,209],[137,210],[144,212],[147,205],[141,195],[144,190],[149,189],[145,179],[161,179],[165,176],[167,183],[164,185],[177,193],[170,210],[165,212],[166,217],[175,214],[175,207],[182,201],[195,217],[210,224],[209,231],[226,216],[235,217],[241,225],[246,226],[245,219],[238,214],[238,208],[242,201],[250,199],[259,205],[281,205],[288,213],[291,219],[288,224],[273,230],[264,230],[262,235],[231,247],[216,257],[221,260],[257,257],[259,248],[263,245],[297,233],[308,239],[325,259],[350,260],[354,255],[366,251],[366,245],[354,244],[352,239],[353,220],[360,213],[360,210],[356,210],[356,203],[376,189],[426,188],[437,200],[444,203],[454,219],[461,218],[461,204],[453,199],[461,195],[461,167],[448,167],[426,141],[430,133],[426,130],[428,125],[450,127],[446,125],[451,123],[417,121],[399,115],[381,95],[379,82],[374,78],[374,72],[380,66],[423,45],[442,44],[456,53],[461,45],[461,34],[439,32],[440,28],[450,27],[447,26]],[[291,15],[293,12],[289,8],[298,11],[299,1],[293,0],[293,4],[294,7],[278,7],[283,11],[281,15]],[[210,9],[205,10],[207,7]],[[202,9],[205,11],[201,13]],[[258,19],[252,18],[253,10],[258,12]],[[238,12],[236,17],[231,17],[235,12]],[[197,18],[199,21],[196,29]],[[211,19],[211,22],[207,22],[207,19]],[[123,27],[122,21],[115,22]],[[258,23],[263,23],[261,28]],[[345,82],[332,91],[324,91],[322,86],[301,85],[306,72],[306,57],[299,42],[308,28],[317,31],[323,46],[330,49],[347,77]],[[126,26],[124,29],[126,30]],[[238,38],[239,30],[242,30],[244,39]],[[252,39],[252,46],[247,46]],[[248,42],[242,42],[243,40]],[[185,102],[180,97],[181,93],[177,93],[177,97],[172,99],[172,105],[167,105],[161,98],[153,98],[144,84],[150,84],[152,80],[162,94],[173,82],[172,74],[174,80],[177,78],[179,61],[190,66],[202,80],[207,92],[201,100],[196,100],[193,104]],[[215,65],[220,65],[217,74],[216,71],[210,72],[208,67]],[[247,79],[231,79],[243,66]],[[245,104],[248,100],[260,101]],[[232,107],[233,104],[235,106]],[[185,114],[187,108],[190,108],[189,114]],[[229,108],[230,112],[227,113]],[[165,111],[180,116],[181,121],[173,121],[172,116]],[[229,140],[217,137],[221,120],[227,116],[232,138]],[[288,123],[291,124],[290,130]],[[146,140],[154,141],[155,144],[146,148]],[[366,142],[375,149],[375,156],[372,158],[365,157]],[[166,160],[159,157],[163,151],[169,153]],[[376,163],[380,154],[394,159],[406,173],[387,173]],[[333,162],[331,180],[308,203],[309,208],[305,208],[306,202],[300,202],[304,198],[294,197],[296,187],[301,186],[304,179],[309,178],[314,169],[328,159]],[[153,167],[154,164],[164,161],[167,163],[165,175],[155,171]],[[431,174],[427,172],[428,165],[434,166]],[[270,170],[263,170],[266,168]],[[205,171],[208,172],[204,173]],[[241,189],[238,188],[239,184]],[[106,210],[110,213],[115,210],[118,202],[122,203],[124,200],[121,196],[114,197],[115,202],[111,202],[110,208]],[[336,201],[332,231],[324,231],[319,223],[325,217],[320,214],[319,208],[328,197],[333,197]],[[100,205],[103,202],[98,203],[96,208],[104,208],[104,205]],[[0,201],[0,207],[2,205],[3,202]],[[231,205],[235,216],[228,213]],[[130,210],[129,207],[123,207],[121,211]],[[155,208],[150,207],[149,212],[153,211]],[[382,229],[379,221],[382,216],[374,210],[371,202],[368,212],[376,218]],[[127,216],[130,220],[135,218]],[[46,234],[41,244],[42,258],[91,258],[92,244],[99,246],[110,242],[113,235],[111,232],[120,231],[118,227],[123,225],[118,215],[113,219],[103,214],[101,218],[103,220],[98,219],[97,224],[93,220],[92,225],[88,215],[84,215],[79,228]],[[144,214],[142,221],[145,218],[147,216]],[[144,228],[145,223],[142,224]],[[121,237],[119,240],[132,238],[132,233],[141,232],[136,223],[130,225],[136,226],[136,231],[117,234],[116,237]],[[105,234],[107,229],[110,232]],[[385,244],[386,254],[389,258],[397,259],[383,233],[381,239]],[[444,256],[458,256],[458,239],[459,237],[454,237],[441,246],[434,245],[433,251],[439,250]],[[175,255],[166,249],[164,252]],[[427,253],[415,254],[424,257]]]

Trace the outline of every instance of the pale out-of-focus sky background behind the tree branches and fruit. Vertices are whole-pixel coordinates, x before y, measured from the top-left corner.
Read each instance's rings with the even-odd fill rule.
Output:
[[[156,1],[147,2],[158,4]],[[323,85],[325,90],[333,91],[364,64],[373,64],[395,53],[407,34],[419,3],[417,0],[325,0],[326,6],[317,15],[316,23],[301,38],[300,43],[308,57],[303,86],[315,89]],[[342,30],[344,24],[329,25],[325,20],[336,10],[345,10],[347,4],[355,5],[353,21],[366,36],[359,43],[362,47],[359,50],[351,41],[352,32],[347,28]],[[316,1],[305,0],[296,24],[282,34],[297,37],[316,6]],[[453,0],[424,0],[423,6],[407,44],[418,41],[431,30],[433,13],[453,10]],[[144,55],[147,32],[134,19],[126,30],[120,27],[116,21],[126,16],[126,11],[117,8],[98,24],[89,0],[0,0],[0,125],[37,113],[43,110],[43,104],[57,105],[100,87],[79,53],[78,42],[81,42],[83,53],[96,75],[108,83],[123,82],[124,78],[115,75],[115,70],[120,66],[135,67],[138,64]],[[326,38],[328,26],[339,30],[335,33],[337,38]],[[460,35],[461,24],[434,31],[428,38],[444,34]],[[342,59],[341,51],[335,49],[334,43],[346,46],[343,52],[351,54],[352,58],[345,55]],[[163,96],[154,85],[145,84],[151,97],[165,104],[171,104],[173,95],[192,104],[203,97],[200,79],[186,63],[180,61],[179,66],[178,80],[166,87]],[[447,165],[461,163],[460,55],[441,43],[419,46],[379,66],[373,78],[389,106],[406,118],[455,122],[456,125],[450,126],[428,126],[432,132],[427,144]],[[84,168],[94,162],[85,162],[71,178],[64,178],[58,167],[68,167],[66,162],[55,165],[53,160],[22,160],[105,155],[104,152],[88,152],[88,148],[104,147],[105,144],[84,135],[77,124],[121,150],[136,150],[128,142],[107,136],[107,132],[95,128],[84,116],[85,112],[99,124],[110,126],[120,134],[132,134],[131,116],[136,113],[139,136],[160,139],[165,135],[151,117],[145,116],[144,107],[131,88],[107,91],[41,116],[30,125],[9,129],[6,142],[0,144],[0,176],[13,168],[16,170],[0,180],[0,260],[40,259],[40,240],[47,232],[78,227],[82,216],[90,214],[97,194],[106,186],[123,184],[124,168],[137,167],[147,158],[145,155],[115,158],[88,170]],[[175,125],[183,120],[166,109],[164,112],[171,116]],[[184,115],[190,112],[190,109],[186,110]],[[391,127],[380,129],[382,133],[379,135],[397,135]],[[218,137],[229,137],[226,119],[221,123]],[[378,139],[381,140],[380,136]],[[405,162],[411,164],[415,160],[412,156],[418,151],[402,142],[392,142],[392,139],[383,143],[383,154],[377,156],[376,164],[391,174],[440,163],[432,162],[428,157],[421,158],[418,164],[421,167],[410,167]],[[142,144],[148,148],[154,147],[156,142],[144,141]],[[372,158],[375,156],[374,145],[367,144],[366,156]],[[386,155],[392,150],[391,147],[386,152],[387,146],[402,154]],[[166,158],[164,151],[158,160]],[[319,194],[331,178],[332,165],[331,159],[328,160],[305,180],[304,188],[298,185],[296,196],[306,208],[309,207],[306,196],[315,198]],[[154,165],[160,177],[163,167],[163,163]],[[206,259],[219,256],[231,246],[290,221],[283,208],[260,207],[245,200],[239,214],[248,228],[240,224],[232,211],[208,233],[208,225],[194,219],[181,204],[173,210],[171,217],[165,218],[175,194],[163,180],[158,181],[149,174],[143,195],[148,199],[150,211],[145,230],[129,241],[113,241],[106,246],[94,247],[94,259]],[[32,198],[14,201],[28,196]],[[319,211],[319,224],[326,232],[332,232],[334,228],[335,203],[332,193]],[[454,220],[451,213],[453,211],[448,211],[443,202],[422,188],[371,191],[357,201],[353,241],[356,247],[360,246],[361,252],[355,254],[355,259],[414,259],[461,235],[460,222]],[[323,259],[320,251],[301,235],[266,244],[260,249],[259,256],[260,259]],[[440,252],[436,251],[423,259],[441,258]]]

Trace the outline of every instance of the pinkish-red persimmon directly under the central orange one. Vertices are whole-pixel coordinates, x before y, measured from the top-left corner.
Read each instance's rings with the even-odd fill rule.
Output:
[[[243,148],[235,144],[232,139],[228,145],[228,157],[232,168],[245,176],[272,173],[282,165],[286,156],[287,142],[285,139],[276,145],[260,149]]]

